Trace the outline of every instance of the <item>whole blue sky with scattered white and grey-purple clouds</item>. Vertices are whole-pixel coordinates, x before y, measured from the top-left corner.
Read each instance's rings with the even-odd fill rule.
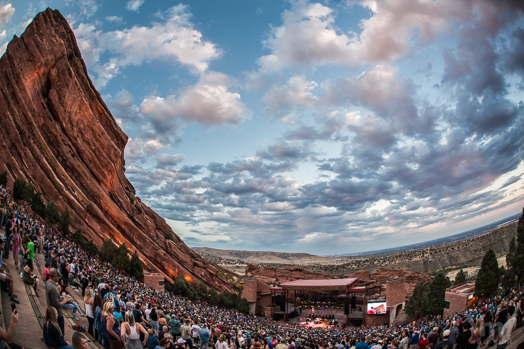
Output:
[[[48,6],[190,246],[368,251],[524,206],[519,1],[3,1],[2,52]]]

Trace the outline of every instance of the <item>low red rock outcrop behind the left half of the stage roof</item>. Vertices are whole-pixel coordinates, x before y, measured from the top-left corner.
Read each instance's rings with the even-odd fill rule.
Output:
[[[257,277],[266,284],[281,284],[298,279],[313,280],[333,278],[331,275],[318,274],[308,269],[296,266],[286,266],[280,269],[265,267],[264,269],[260,270],[260,268],[254,264],[248,264],[246,266],[245,274],[248,277]]]

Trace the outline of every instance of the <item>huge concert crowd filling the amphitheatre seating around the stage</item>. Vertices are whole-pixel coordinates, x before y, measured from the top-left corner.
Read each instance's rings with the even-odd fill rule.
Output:
[[[0,217],[0,224],[6,227],[5,244],[17,239],[15,231],[20,234],[18,243],[12,245],[18,256],[13,265],[23,265],[19,270],[24,282],[38,290],[34,263],[45,265],[42,274],[48,307],[43,339],[54,349],[86,345],[85,337],[77,334],[72,343],[64,341],[64,309],[73,311],[74,320],[86,317],[86,331],[105,349],[477,349],[493,344],[487,341],[490,334],[497,349],[505,349],[512,330],[521,323],[524,304],[515,290],[452,317],[422,319],[403,327],[310,328],[275,322],[148,287],[60,237],[27,207],[17,206],[5,189],[0,195],[2,207],[8,208]],[[8,233],[11,225],[13,232]],[[0,247],[4,247],[5,260],[6,246]],[[0,273],[5,274],[0,279],[3,277],[15,302],[8,278],[13,276],[7,266]],[[85,313],[69,295],[70,287],[81,292]],[[13,314],[13,327],[17,321],[18,315]],[[8,336],[10,330],[0,331],[7,343],[13,339]]]

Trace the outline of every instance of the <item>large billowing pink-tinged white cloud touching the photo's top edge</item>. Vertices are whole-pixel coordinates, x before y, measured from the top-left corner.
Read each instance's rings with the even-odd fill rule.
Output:
[[[464,11],[461,2],[363,0],[372,10],[361,21],[362,32],[341,33],[332,8],[306,0],[292,2],[282,14],[282,25],[272,27],[264,44],[272,52],[260,57],[261,72],[294,66],[337,64],[355,69],[363,64],[390,62],[409,52],[418,33],[422,41],[449,26],[448,19]],[[465,7],[465,6],[464,6]]]

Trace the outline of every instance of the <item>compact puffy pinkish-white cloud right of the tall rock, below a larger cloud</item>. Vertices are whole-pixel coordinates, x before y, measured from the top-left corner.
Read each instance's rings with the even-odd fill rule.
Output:
[[[178,96],[145,98],[140,104],[140,111],[161,122],[181,117],[208,125],[237,125],[252,114],[240,101],[238,93],[227,91],[230,84],[229,78],[224,74],[206,73],[200,77],[198,83],[185,88]]]

